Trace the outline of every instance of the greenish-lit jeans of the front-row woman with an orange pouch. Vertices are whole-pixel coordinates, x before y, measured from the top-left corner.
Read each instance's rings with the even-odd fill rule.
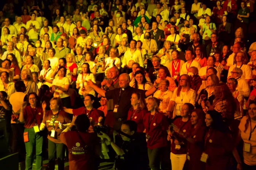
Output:
[[[40,132],[35,133],[34,128],[24,129],[24,132],[28,132],[29,142],[25,142],[26,147],[26,170],[32,170],[34,153],[36,156],[35,169],[40,170],[43,165],[43,136]]]

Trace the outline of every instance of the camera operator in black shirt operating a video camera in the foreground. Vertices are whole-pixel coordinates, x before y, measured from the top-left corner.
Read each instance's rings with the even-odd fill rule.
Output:
[[[106,133],[98,134],[101,138],[102,151],[107,153],[107,145],[112,146],[116,153],[115,170],[147,170],[147,143],[146,139],[136,133],[136,122],[126,120],[122,124],[121,131],[127,136],[114,135],[115,142]]]

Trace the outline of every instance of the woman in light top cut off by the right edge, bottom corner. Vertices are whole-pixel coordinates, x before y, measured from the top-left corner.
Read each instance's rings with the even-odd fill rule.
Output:
[[[254,170],[256,168],[256,163],[254,158],[256,156],[255,145],[256,142],[256,102],[250,101],[248,107],[248,113],[243,116],[240,124],[238,126],[238,141],[241,139],[244,142],[243,147],[243,169]],[[249,147],[248,147],[249,146]],[[239,164],[239,163],[238,163]],[[240,164],[241,165],[241,164]]]

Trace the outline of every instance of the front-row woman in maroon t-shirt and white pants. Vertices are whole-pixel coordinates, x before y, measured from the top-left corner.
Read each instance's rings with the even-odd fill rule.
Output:
[[[170,127],[168,140],[171,141],[171,168],[173,170],[182,170],[187,157],[188,142],[184,136],[191,132],[190,115],[194,110],[194,105],[185,103],[181,106],[181,117],[173,122]]]

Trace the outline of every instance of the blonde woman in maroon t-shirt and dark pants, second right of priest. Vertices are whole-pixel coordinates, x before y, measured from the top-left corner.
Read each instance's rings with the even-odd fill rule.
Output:
[[[147,102],[147,113],[143,118],[146,129],[147,153],[149,156],[149,167],[160,170],[160,156],[167,148],[168,121],[166,116],[159,112],[160,102],[157,98],[149,98]]]

